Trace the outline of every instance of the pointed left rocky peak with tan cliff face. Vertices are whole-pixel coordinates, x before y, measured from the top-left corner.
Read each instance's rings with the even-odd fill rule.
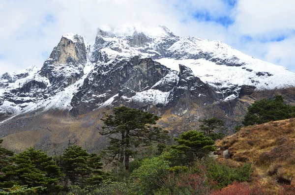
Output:
[[[65,34],[50,57],[45,60],[40,75],[49,79],[50,93],[74,84],[83,77],[87,53],[82,36]]]

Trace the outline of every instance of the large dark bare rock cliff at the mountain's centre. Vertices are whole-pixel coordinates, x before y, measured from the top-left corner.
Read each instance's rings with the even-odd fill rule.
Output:
[[[108,65],[97,63],[81,89],[72,98],[71,113],[86,113],[114,96],[117,100],[120,97],[132,97],[136,92],[150,89],[170,71],[151,58],[141,59],[140,56],[116,59]]]

